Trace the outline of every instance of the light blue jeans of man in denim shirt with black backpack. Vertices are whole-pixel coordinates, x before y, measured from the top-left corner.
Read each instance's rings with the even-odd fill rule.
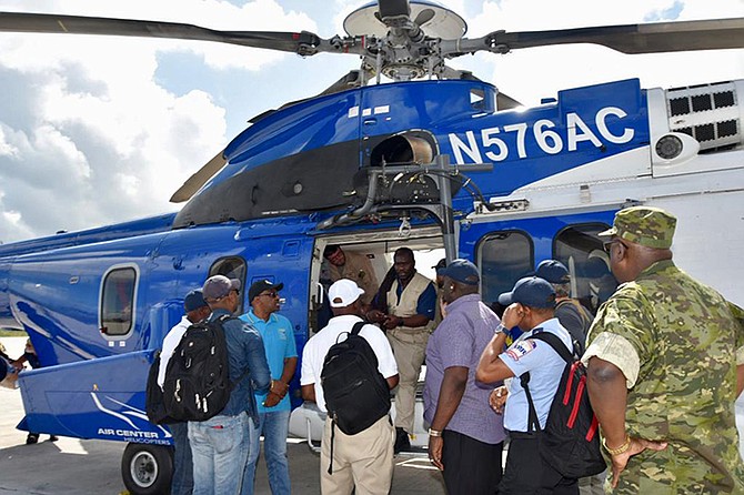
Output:
[[[217,415],[202,422],[189,422],[194,495],[240,493],[248,459],[249,422],[245,412],[237,416]]]

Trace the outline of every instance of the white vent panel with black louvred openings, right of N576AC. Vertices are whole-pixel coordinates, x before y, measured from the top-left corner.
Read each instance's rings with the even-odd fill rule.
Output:
[[[698,84],[666,91],[670,130],[700,142],[701,152],[742,142],[738,95],[733,82]]]

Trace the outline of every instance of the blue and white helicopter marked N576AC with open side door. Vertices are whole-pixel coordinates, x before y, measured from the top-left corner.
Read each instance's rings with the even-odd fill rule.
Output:
[[[379,0],[346,34],[214,31],[190,24],[0,13],[0,31],[175,38],[353,54],[322,94],[251,121],[172,198],[174,214],[0,246],[0,324],[26,330],[42,368],[21,375],[20,427],[128,442],[127,487],[160,493],[170,433],[147,421],[153,351],[182,297],[213,274],[282,281],[298,350],[322,325],[322,253],[375,260],[408,245],[473,260],[486,302],[546,257],[589,307],[615,287],[597,233],[630,204],[680,218],[680,265],[744,303],[744,80],[642,89],[636,79],[567,89],[523,108],[448,61],[479,51],[597,43],[624,53],[744,48],[744,19],[465,38],[428,0]],[[380,83],[384,75],[393,82]],[[370,84],[378,82],[376,84]],[[294,405],[301,400],[298,378]],[[314,412],[301,407],[302,430]],[[311,432],[312,436],[312,432]],[[425,444],[425,437],[420,440]]]

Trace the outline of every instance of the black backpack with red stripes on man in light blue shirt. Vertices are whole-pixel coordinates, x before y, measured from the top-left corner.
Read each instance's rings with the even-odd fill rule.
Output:
[[[520,376],[530,406],[527,431],[540,433],[543,461],[566,478],[602,473],[607,466],[600,451],[599,423],[589,402],[586,368],[552,333],[541,332],[530,339],[545,342],[566,362],[542,432],[527,386],[530,373]]]

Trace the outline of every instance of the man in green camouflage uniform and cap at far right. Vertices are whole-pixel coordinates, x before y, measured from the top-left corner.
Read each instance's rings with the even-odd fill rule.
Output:
[[[584,362],[620,494],[744,493],[734,401],[744,312],[672,262],[676,219],[617,212],[600,235],[622,283],[599,311]]]

